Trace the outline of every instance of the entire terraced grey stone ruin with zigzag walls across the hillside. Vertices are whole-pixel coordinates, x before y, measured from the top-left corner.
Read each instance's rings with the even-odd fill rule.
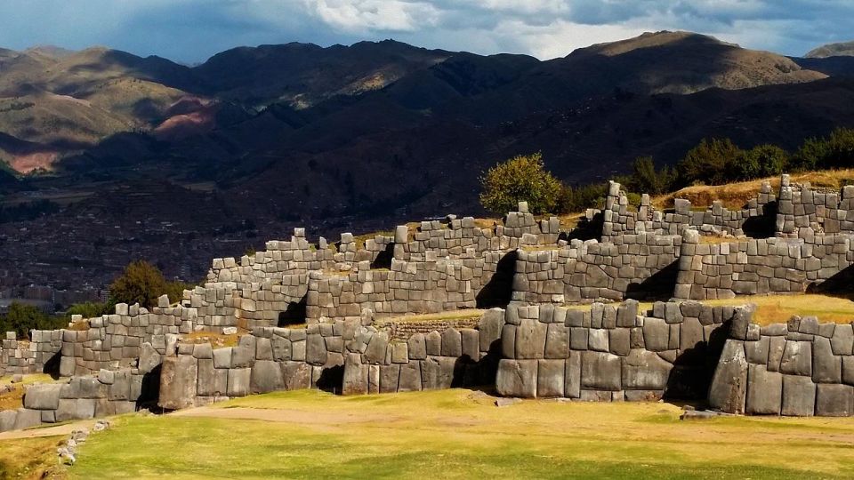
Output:
[[[29,387],[23,408],[0,412],[0,430],[296,388],[483,386],[850,415],[850,324],[760,327],[749,307],[698,300],[845,288],[852,236],[854,187],[823,191],[786,175],[777,193],[766,183],[735,211],[676,200],[661,212],[649,196],[634,208],[612,182],[604,209],[573,231],[524,203],[495,224],[448,216],[365,241],[311,244],[297,228],[254,256],[214,259],[178,304],[119,304],[29,342],[7,335],[3,372],[64,380]]]

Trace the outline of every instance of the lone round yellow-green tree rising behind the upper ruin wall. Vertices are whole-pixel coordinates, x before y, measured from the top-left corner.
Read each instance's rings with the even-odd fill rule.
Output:
[[[496,164],[481,177],[480,204],[490,212],[503,214],[528,202],[532,213],[553,212],[562,185],[545,170],[540,153],[514,156]]]

